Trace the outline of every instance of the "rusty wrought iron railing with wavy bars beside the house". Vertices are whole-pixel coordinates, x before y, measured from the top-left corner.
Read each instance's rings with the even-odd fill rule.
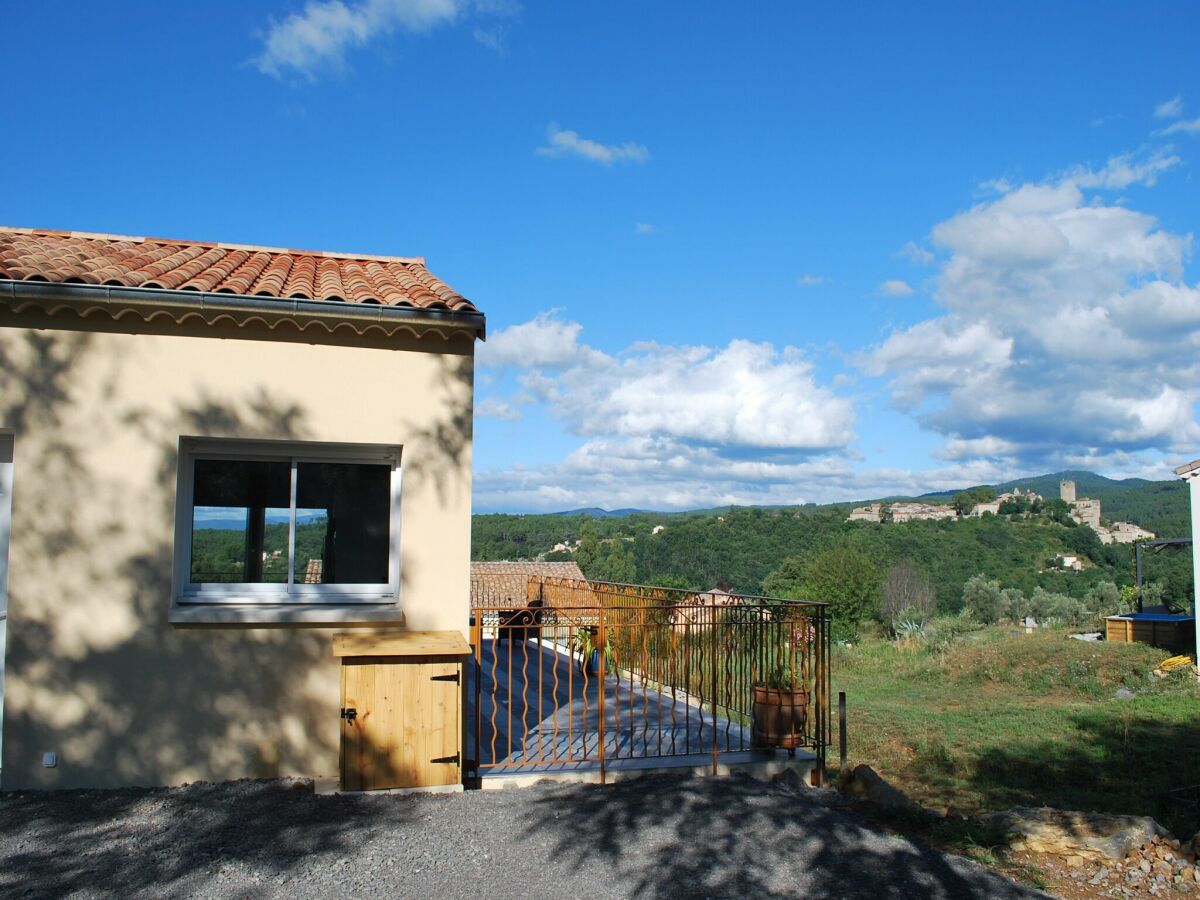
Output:
[[[823,772],[826,604],[540,576],[524,588],[473,578],[480,774],[697,755],[715,770],[769,744],[811,751]],[[798,706],[782,738],[756,709],[767,685]]]

